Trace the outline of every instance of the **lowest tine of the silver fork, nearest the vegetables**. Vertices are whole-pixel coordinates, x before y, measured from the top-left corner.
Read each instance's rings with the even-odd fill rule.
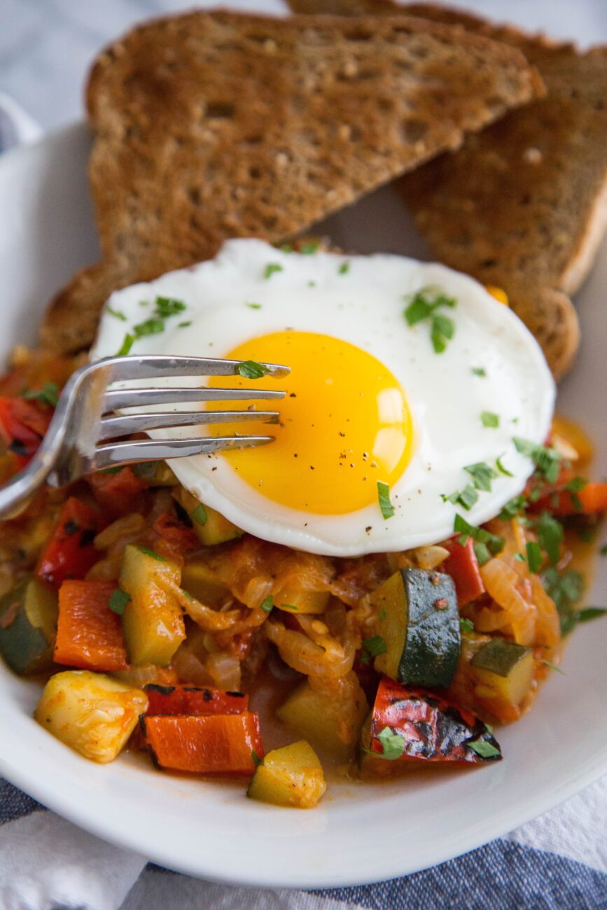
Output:
[[[273,436],[204,436],[196,440],[136,440],[111,442],[97,446],[94,453],[83,459],[83,472],[129,464],[133,461],[161,461],[187,458],[190,455],[210,455],[228,449],[249,449],[272,442]]]

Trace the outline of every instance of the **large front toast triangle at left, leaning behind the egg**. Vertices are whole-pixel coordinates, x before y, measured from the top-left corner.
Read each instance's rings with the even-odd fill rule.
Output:
[[[288,238],[542,91],[519,51],[405,16],[139,26],[88,84],[105,262],[56,297],[44,342],[85,347],[109,291],[226,238]]]

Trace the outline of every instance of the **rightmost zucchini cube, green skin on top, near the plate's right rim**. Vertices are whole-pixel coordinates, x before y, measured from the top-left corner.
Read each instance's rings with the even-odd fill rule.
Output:
[[[483,687],[484,697],[518,705],[533,681],[533,652],[522,644],[493,638],[474,654],[470,668],[475,682]]]

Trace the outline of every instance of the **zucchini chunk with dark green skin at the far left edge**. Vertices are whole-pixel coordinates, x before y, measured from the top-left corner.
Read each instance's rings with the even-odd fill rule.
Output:
[[[53,662],[57,594],[26,578],[0,600],[0,654],[15,673],[46,670]]]

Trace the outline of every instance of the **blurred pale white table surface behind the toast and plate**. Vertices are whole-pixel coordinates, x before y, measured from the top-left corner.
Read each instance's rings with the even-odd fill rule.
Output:
[[[82,116],[86,72],[97,51],[148,16],[191,8],[188,0],[0,0],[0,90],[46,127]],[[280,12],[280,0],[218,0]],[[607,42],[607,0],[451,0],[582,45]]]

